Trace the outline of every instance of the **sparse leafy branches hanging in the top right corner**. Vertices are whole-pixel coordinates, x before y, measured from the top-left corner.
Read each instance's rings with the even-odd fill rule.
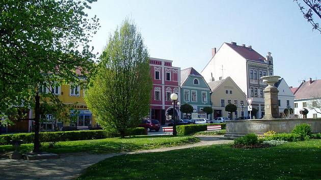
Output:
[[[312,25],[312,30],[315,29],[321,33],[321,27],[319,26],[318,20],[321,20],[321,1],[320,0],[294,0],[300,8],[303,17]],[[319,19],[315,20],[313,15],[316,15]]]

